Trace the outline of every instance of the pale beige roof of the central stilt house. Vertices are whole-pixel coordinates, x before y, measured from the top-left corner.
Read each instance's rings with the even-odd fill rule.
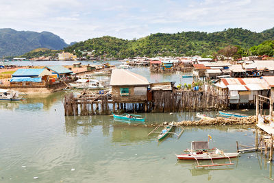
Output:
[[[148,86],[147,78],[125,69],[113,69],[110,86]]]

